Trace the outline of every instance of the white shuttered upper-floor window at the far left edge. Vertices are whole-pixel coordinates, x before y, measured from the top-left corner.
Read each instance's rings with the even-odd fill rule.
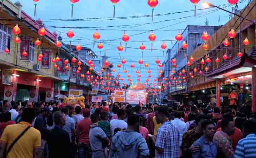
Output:
[[[0,52],[6,48],[11,50],[11,28],[6,25],[0,24]]]

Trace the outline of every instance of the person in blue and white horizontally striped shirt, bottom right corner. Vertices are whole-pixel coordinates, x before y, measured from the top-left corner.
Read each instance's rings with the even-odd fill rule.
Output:
[[[238,141],[234,158],[256,158],[256,120],[247,120],[243,124],[244,139]]]

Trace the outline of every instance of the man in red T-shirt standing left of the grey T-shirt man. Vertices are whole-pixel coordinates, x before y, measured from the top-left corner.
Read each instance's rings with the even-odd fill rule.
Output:
[[[87,157],[88,145],[89,145],[89,131],[90,125],[92,125],[90,119],[90,109],[84,109],[84,119],[79,121],[76,128],[76,141],[78,144],[79,158]]]

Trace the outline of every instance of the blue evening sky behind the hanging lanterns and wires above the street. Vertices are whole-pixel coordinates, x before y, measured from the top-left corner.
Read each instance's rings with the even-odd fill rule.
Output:
[[[15,2],[15,0],[11,0]],[[28,15],[34,18],[34,2],[32,0],[19,0],[23,5],[23,11],[25,11]],[[215,5],[223,5],[228,4],[228,0],[208,0],[212,4]],[[244,0],[239,0],[244,1]],[[197,5],[198,9],[203,8],[201,5],[202,0],[200,0],[199,4]],[[244,6],[247,5],[247,0],[243,3],[240,3],[239,9],[242,9]],[[173,12],[183,12],[183,11],[191,11],[194,9],[194,5],[190,2],[190,0],[159,0],[159,5],[156,6],[154,10],[154,14],[164,14],[164,13],[173,13]],[[231,7],[227,7],[226,9],[231,11]],[[101,40],[113,40],[117,38],[122,38],[124,33],[123,30],[127,30],[126,33],[130,36],[130,41],[135,42],[128,42],[127,47],[135,47],[139,48],[141,45],[140,41],[146,46],[146,48],[151,48],[151,42],[148,40],[148,35],[151,32],[146,32],[147,30],[154,30],[165,27],[165,31],[154,31],[156,35],[156,41],[153,43],[153,49],[161,49],[161,44],[165,40],[174,40],[175,35],[179,32],[177,31],[180,29],[180,32],[186,28],[187,25],[204,25],[205,19],[209,20],[209,25],[218,26],[218,16],[220,16],[220,25],[224,25],[229,20],[229,14],[224,11],[216,11],[210,14],[209,11],[213,9],[205,9],[201,11],[197,11],[198,17],[188,17],[194,14],[194,11],[185,12],[185,13],[177,13],[171,15],[164,15],[154,17],[153,22],[168,20],[165,22],[158,22],[155,24],[147,24],[143,26],[122,26],[122,27],[105,27],[104,29],[118,29],[117,30],[99,30],[101,34]],[[116,17],[129,17],[129,16],[138,16],[138,15],[151,15],[152,9],[147,5],[147,0],[120,0],[120,2],[116,5]],[[113,4],[110,0],[80,0],[74,5],[74,15],[73,19],[83,19],[83,18],[103,18],[103,17],[113,17]],[[183,18],[188,17],[188,18]],[[71,19],[71,3],[70,0],[40,0],[37,2],[37,17],[35,19]],[[179,20],[172,20],[178,19]],[[67,41],[69,43],[68,37],[66,37],[66,32],[68,32],[68,27],[97,27],[101,29],[102,26],[117,26],[117,25],[133,25],[133,24],[145,24],[151,23],[151,17],[144,17],[144,18],[134,18],[134,19],[120,19],[120,20],[101,20],[101,21],[62,21],[62,22],[44,22],[46,28],[50,29],[50,31],[65,32],[62,33],[63,41]],[[50,28],[47,26],[60,26],[60,27],[67,27],[67,28]],[[168,27],[166,27],[168,26]],[[136,30],[136,31],[134,31]],[[92,40],[92,34],[96,31],[96,28],[90,29],[72,29],[78,37],[73,37],[72,44],[76,45],[78,39],[80,39],[80,44],[85,45],[86,47],[92,48],[92,50],[97,54],[100,55],[100,52],[95,46],[93,48],[93,42],[89,41],[88,39]],[[139,35],[134,35],[138,34]],[[132,36],[134,35],[134,36]],[[120,40],[114,40],[111,43],[103,43],[104,48],[102,49],[101,54],[104,54],[104,50],[107,50],[107,56],[109,57],[109,61],[113,62],[116,72],[115,76],[118,74],[117,64],[121,63],[121,59],[119,57],[119,53],[121,53],[121,57],[127,60],[127,64],[125,67],[128,70],[128,73],[132,75],[132,79],[135,82],[137,78],[137,74],[135,73],[136,69],[140,70],[140,66],[138,64],[139,59],[141,58],[141,51],[138,49],[127,48],[127,51],[119,52],[117,50],[117,46],[120,44]],[[172,45],[175,43],[173,41],[166,41],[167,48],[172,48]],[[122,45],[125,44],[122,42]],[[155,60],[159,57],[159,59],[164,61],[163,52],[162,51],[152,51],[146,50],[143,52],[143,61],[144,64],[148,62],[149,68],[152,71],[152,78],[150,81],[153,82],[153,79],[156,78],[159,74],[157,71],[157,66],[155,64]],[[130,64],[134,63],[135,68],[133,73],[130,72]],[[148,73],[145,71],[145,68],[142,66],[141,69],[141,81],[146,80],[148,77]],[[128,84],[127,81],[127,74],[123,73],[123,70],[120,69],[122,73],[121,77],[124,78],[124,81]]]

